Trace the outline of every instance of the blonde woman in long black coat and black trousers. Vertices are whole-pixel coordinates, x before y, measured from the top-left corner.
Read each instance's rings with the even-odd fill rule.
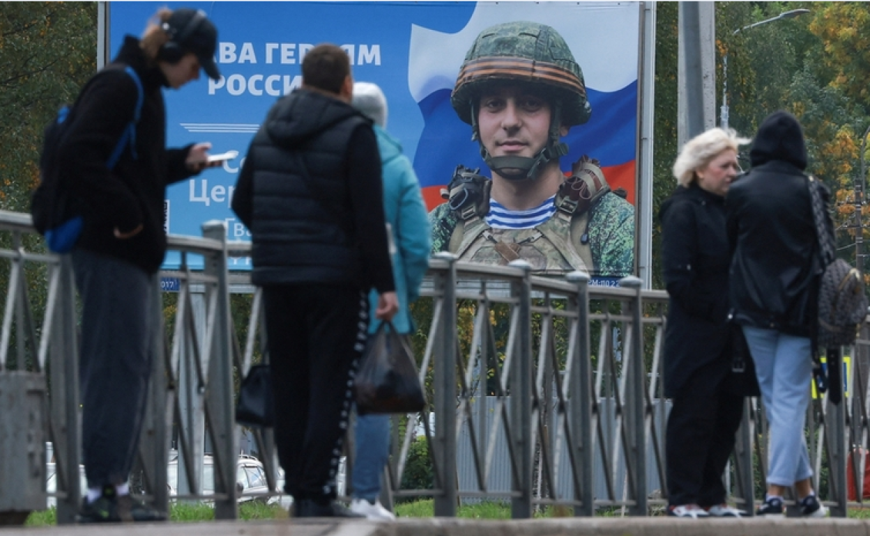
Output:
[[[722,473],[743,416],[731,376],[730,252],[725,195],[748,140],[710,129],[686,143],[673,164],[679,186],[662,204],[662,259],[670,296],[665,332],[667,514],[741,517],[726,504]]]

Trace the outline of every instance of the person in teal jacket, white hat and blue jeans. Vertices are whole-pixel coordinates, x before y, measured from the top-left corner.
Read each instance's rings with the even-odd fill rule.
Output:
[[[374,83],[354,83],[352,104],[375,123],[383,169],[384,212],[390,225],[392,275],[398,295],[398,313],[393,316],[392,325],[398,333],[408,334],[414,325],[408,306],[418,298],[420,282],[429,268],[432,248],[429,218],[411,161],[402,154],[398,140],[385,130],[384,92]],[[369,301],[370,310],[374,311],[378,295],[371,294]],[[372,318],[369,334],[375,333],[379,324]],[[357,453],[351,511],[365,514],[368,519],[395,519],[378,500],[380,475],[384,473],[390,448],[390,416],[358,415],[355,433]]]

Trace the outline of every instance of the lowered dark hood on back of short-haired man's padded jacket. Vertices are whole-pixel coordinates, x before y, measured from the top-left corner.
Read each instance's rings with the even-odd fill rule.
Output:
[[[277,145],[291,149],[351,116],[365,118],[357,109],[336,97],[295,89],[271,109],[264,129]]]

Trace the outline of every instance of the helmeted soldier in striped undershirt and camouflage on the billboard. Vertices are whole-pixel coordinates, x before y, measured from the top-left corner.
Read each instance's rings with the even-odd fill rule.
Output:
[[[484,30],[465,55],[451,96],[492,170],[459,165],[429,215],[432,251],[459,260],[524,259],[537,274],[634,272],[634,208],[612,191],[595,159],[583,156],[566,178],[561,138],[589,120],[579,65],[562,36],[540,23]]]

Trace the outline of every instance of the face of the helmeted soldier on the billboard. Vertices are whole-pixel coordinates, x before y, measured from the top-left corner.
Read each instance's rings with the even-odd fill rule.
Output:
[[[550,111],[547,100],[521,86],[491,89],[480,97],[480,141],[491,156],[532,158],[546,146]]]

